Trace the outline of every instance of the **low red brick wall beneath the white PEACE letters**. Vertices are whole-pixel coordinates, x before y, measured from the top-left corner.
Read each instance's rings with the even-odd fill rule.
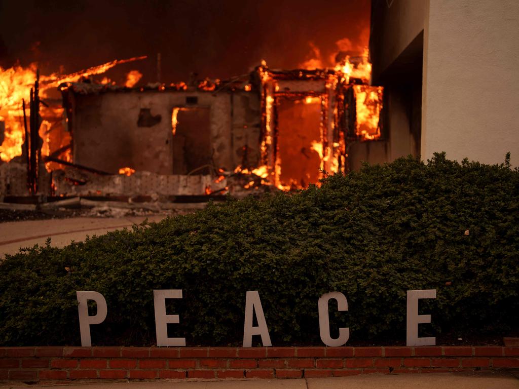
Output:
[[[519,347],[13,347],[0,380],[343,377],[519,368]]]

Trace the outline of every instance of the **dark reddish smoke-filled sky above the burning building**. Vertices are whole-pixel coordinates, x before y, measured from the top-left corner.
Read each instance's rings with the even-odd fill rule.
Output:
[[[339,39],[367,45],[369,25],[370,0],[0,0],[0,66],[69,73],[147,55],[108,76],[137,69],[156,81],[160,52],[164,82],[191,72],[225,79],[262,59],[295,68],[310,58],[310,42],[326,61]]]

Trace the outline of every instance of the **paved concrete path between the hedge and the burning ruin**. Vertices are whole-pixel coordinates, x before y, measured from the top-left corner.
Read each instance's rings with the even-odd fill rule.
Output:
[[[51,238],[51,245],[63,247],[71,241],[80,242],[87,235],[102,235],[108,231],[131,228],[145,219],[159,221],[166,215],[126,216],[121,218],[72,217],[67,219],[45,219],[7,221],[0,223],[0,258],[5,254],[16,254],[20,247],[43,245]]]

